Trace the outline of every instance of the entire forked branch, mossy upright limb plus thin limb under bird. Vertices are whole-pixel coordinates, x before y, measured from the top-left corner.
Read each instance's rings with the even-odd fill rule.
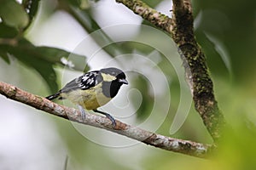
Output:
[[[154,26],[168,32],[176,42],[189,79],[195,110],[199,112],[208,132],[212,135],[212,139],[217,142],[221,139],[222,129],[225,126],[224,116],[219,111],[218,103],[213,94],[212,79],[208,73],[206,57],[195,40],[194,19],[190,0],[172,0],[172,19],[165,14],[160,14],[154,8],[150,8],[141,0],[116,0],[116,2],[123,3],[135,14],[139,14]],[[48,99],[29,94],[5,82],[0,82],[0,94],[49,114],[60,116],[73,122],[100,127],[163,150],[171,150],[189,156],[207,157],[216,148],[214,144],[201,144],[189,140],[174,139],[148,132],[139,127],[132,127],[124,122],[116,121],[117,125],[113,127],[108,118],[102,116],[88,114],[82,120],[81,113],[73,108],[55,104]]]

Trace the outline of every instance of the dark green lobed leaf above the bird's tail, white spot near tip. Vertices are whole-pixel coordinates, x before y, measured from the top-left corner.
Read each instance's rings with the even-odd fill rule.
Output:
[[[0,45],[0,55],[7,62],[9,62],[8,54],[12,54],[20,62],[38,71],[53,93],[58,90],[56,74],[53,69],[56,64],[66,66],[64,64],[67,62],[73,65],[75,70],[88,69],[85,56],[71,54],[59,48],[36,47],[26,39],[21,39],[15,46],[11,44]]]

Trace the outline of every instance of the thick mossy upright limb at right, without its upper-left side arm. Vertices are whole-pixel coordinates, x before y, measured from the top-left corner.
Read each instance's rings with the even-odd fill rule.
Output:
[[[172,38],[183,56],[183,66],[193,94],[195,110],[199,112],[212,139],[218,141],[225,124],[224,116],[214,97],[206,56],[195,40],[191,3],[189,0],[172,2]]]

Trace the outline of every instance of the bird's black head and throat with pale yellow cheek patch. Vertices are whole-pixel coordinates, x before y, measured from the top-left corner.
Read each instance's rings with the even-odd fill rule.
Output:
[[[128,84],[125,79],[125,73],[117,68],[110,67],[102,69],[100,70],[100,73],[103,78],[103,94],[110,98],[113,98],[119,92],[119,88],[123,84]]]

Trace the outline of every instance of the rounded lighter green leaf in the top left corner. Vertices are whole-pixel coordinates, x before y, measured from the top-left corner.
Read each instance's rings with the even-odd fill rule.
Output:
[[[8,26],[24,28],[29,19],[24,8],[15,0],[1,0],[0,17]]]

